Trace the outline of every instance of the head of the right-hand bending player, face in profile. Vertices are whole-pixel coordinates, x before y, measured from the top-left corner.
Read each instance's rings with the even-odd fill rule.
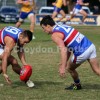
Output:
[[[43,19],[40,22],[40,25],[46,33],[51,33],[55,22],[49,15],[47,15],[43,17]]]

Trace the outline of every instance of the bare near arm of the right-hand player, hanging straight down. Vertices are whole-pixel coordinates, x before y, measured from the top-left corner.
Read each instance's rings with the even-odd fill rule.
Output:
[[[52,34],[52,40],[60,48],[61,64],[59,67],[59,72],[60,72],[60,76],[63,77],[65,75],[65,69],[67,65],[67,48],[65,47],[62,34],[59,35],[57,32],[55,32],[54,34]]]

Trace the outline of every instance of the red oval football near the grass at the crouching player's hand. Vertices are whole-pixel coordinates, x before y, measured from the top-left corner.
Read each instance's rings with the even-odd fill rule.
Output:
[[[21,81],[27,81],[32,74],[32,66],[30,65],[25,65],[22,67],[20,71],[20,80]]]

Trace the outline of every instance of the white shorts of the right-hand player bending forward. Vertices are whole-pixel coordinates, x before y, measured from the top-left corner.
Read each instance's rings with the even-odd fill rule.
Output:
[[[80,64],[88,59],[95,58],[96,55],[96,48],[94,44],[92,44],[83,54],[79,56],[73,55],[71,61],[76,64]]]

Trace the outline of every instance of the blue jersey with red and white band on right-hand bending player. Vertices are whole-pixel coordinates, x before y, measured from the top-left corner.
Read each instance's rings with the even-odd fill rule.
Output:
[[[72,50],[75,56],[84,53],[92,44],[90,40],[71,26],[55,25],[52,34],[55,32],[60,32],[64,35],[65,46]]]

